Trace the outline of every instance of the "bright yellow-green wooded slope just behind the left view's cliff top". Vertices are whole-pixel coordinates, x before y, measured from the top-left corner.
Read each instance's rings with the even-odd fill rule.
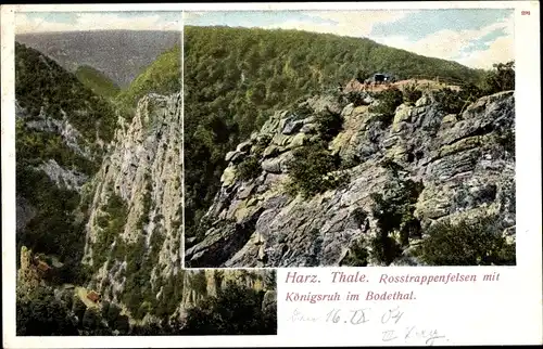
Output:
[[[136,107],[148,93],[172,94],[181,90],[181,51],[179,46],[162,53],[152,64],[123,90],[116,102],[124,109]]]

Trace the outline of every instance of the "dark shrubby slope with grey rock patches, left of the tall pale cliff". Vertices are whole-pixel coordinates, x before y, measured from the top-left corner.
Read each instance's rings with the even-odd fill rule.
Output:
[[[116,114],[73,74],[18,42],[15,100],[17,246],[56,255],[70,273],[84,244],[83,219],[74,211],[113,137]]]

